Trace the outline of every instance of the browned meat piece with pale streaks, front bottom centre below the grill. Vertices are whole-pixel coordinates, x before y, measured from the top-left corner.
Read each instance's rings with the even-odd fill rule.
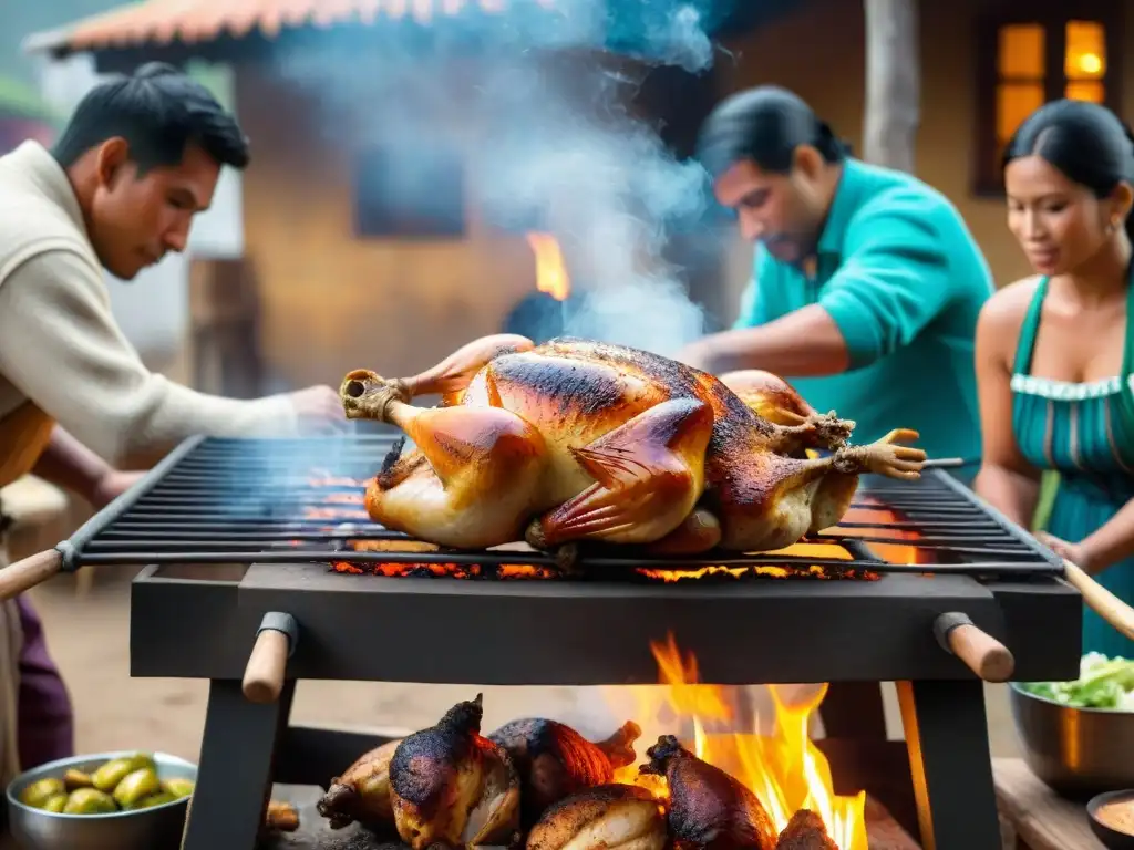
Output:
[[[662,850],[661,804],[644,788],[598,785],[552,804],[527,834],[527,850]]]

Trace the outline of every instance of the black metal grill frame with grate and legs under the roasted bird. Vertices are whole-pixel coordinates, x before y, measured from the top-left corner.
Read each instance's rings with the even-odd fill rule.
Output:
[[[1009,647],[1022,679],[1070,678],[1078,665],[1082,600],[1059,580],[1060,564],[958,482],[940,470],[926,471],[912,485],[865,482],[866,494],[879,496],[904,516],[900,522],[882,528],[948,536],[950,544],[942,546],[933,537],[921,541],[934,547],[939,560],[948,556],[947,563],[886,564],[869,549],[870,538],[878,542],[885,532],[865,541],[835,537],[833,542],[871,569],[915,573],[878,581],[720,586],[699,580],[637,586],[618,575],[617,568],[629,567],[633,572],[643,560],[609,556],[606,561],[584,559],[583,566],[603,569],[583,570],[587,577],[583,581],[358,577],[340,575],[325,561],[333,555],[333,560],[349,556],[356,563],[452,562],[457,556],[285,550],[278,545],[284,541],[274,538],[232,537],[231,521],[202,529],[188,522],[178,528],[171,519],[179,501],[180,516],[192,515],[184,501],[186,493],[171,491],[174,486],[192,485],[206,494],[206,501],[211,492],[214,504],[231,511],[232,500],[218,495],[225,493],[225,481],[217,476],[215,466],[205,462],[210,459],[251,468],[255,466],[253,452],[277,459],[287,458],[289,451],[329,458],[332,449],[365,443],[367,451],[359,461],[365,468],[358,475],[364,477],[376,470],[389,440],[386,435],[358,435],[346,442],[191,440],[59,547],[66,569],[147,564],[132,587],[132,675],[211,680],[185,850],[251,848],[272,781],[325,785],[332,771],[341,770],[364,748],[355,739],[346,742],[340,733],[290,725],[299,679],[447,682],[471,688],[646,683],[657,675],[649,644],[670,631],[683,651],[697,657],[702,681],[709,683],[828,681],[833,695],[838,688],[897,682],[906,742],[879,745],[904,748],[908,755],[923,843],[992,847],[998,840],[982,683],[942,649],[936,624],[942,615],[967,618]],[[308,474],[294,458],[276,462],[303,467],[304,475]],[[255,491],[247,481],[245,488]],[[270,488],[261,481],[263,490]],[[297,500],[294,490],[288,493],[290,504],[274,492],[252,492],[255,498],[247,504],[279,511],[277,522],[294,520]],[[263,519],[264,509],[260,510]],[[230,512],[228,520],[232,519]],[[242,524],[248,519],[243,517],[236,525],[247,528]],[[215,516],[212,520],[228,521]],[[158,524],[151,536],[144,542],[135,537],[136,546],[122,545],[143,530],[138,526],[151,521]],[[200,536],[187,537],[212,530],[229,535],[214,539],[213,551],[204,551]],[[286,530],[293,535],[297,528]],[[180,533],[183,539],[168,537],[164,546],[158,545],[168,532]],[[374,529],[374,534],[390,533]],[[327,543],[324,534],[312,536],[316,545]],[[996,549],[974,536],[991,537]],[[827,536],[821,539],[832,542]],[[234,546],[234,541],[243,545]],[[997,552],[995,559],[991,552]],[[460,556],[475,563],[533,563],[540,558],[498,552]],[[809,566],[814,562],[803,560]],[[696,563],[705,561],[785,564],[784,556],[769,555],[710,555]],[[662,563],[671,569],[682,562]],[[251,703],[242,692],[240,677],[260,630],[279,623],[282,615],[295,624],[282,691],[276,703]],[[875,703],[844,708],[831,720],[841,717],[844,724],[849,719],[870,720],[871,726],[885,730],[881,702]],[[822,713],[827,722],[826,704]],[[858,741],[848,733],[831,742]],[[234,751],[240,751],[242,758],[234,762]],[[311,753],[350,755],[339,756],[331,765],[312,758]],[[868,790],[882,799],[885,789]]]

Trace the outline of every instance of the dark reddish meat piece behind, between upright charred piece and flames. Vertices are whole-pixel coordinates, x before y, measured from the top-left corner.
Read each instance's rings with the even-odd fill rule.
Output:
[[[642,729],[627,721],[601,743],[553,720],[526,719],[506,723],[489,736],[503,747],[521,782],[521,815],[531,826],[553,802],[576,791],[613,782],[615,771],[634,764],[634,741]]]

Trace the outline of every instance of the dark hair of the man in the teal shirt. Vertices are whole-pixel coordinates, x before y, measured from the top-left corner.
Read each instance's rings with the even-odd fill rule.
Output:
[[[701,128],[697,159],[713,177],[743,160],[785,175],[799,145],[811,145],[832,164],[850,151],[802,97],[778,86],[759,86],[717,104]]]

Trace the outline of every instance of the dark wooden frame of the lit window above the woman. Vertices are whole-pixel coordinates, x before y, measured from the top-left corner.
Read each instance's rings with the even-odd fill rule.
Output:
[[[1013,3],[1013,6],[1016,6]],[[1101,78],[1103,104],[1122,116],[1123,82],[1123,2],[1122,0],[1080,0],[1068,11],[1059,0],[1035,0],[1016,11],[982,15],[976,22],[976,120],[972,163],[972,189],[976,197],[1002,198],[1004,175],[995,161],[997,150],[997,86],[999,75],[999,32],[1012,24],[1040,24],[1044,28],[1044,102],[1064,96],[1066,25],[1069,20],[1095,20],[1102,25],[1107,51],[1107,71]]]

